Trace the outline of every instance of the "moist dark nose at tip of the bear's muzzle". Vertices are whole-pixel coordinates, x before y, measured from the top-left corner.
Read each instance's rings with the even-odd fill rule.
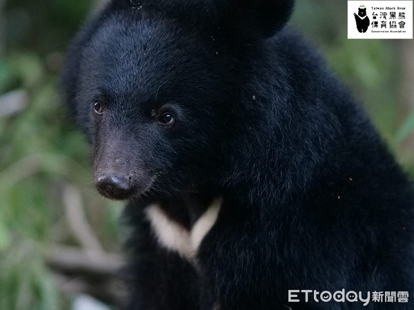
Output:
[[[130,178],[117,174],[98,174],[95,177],[95,186],[103,196],[117,198],[126,194],[130,188]]]

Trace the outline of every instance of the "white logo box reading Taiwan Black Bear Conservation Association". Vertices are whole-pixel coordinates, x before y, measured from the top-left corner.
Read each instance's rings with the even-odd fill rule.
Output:
[[[357,29],[358,8],[366,8],[366,32]],[[413,1],[348,1],[348,39],[413,39]]]

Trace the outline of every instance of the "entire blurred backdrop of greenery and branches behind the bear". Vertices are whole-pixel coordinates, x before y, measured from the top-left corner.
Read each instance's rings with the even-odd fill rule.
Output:
[[[0,309],[115,309],[122,299],[122,204],[95,192],[88,144],[56,87],[68,41],[96,5],[0,0]],[[345,0],[297,0],[291,23],[414,176],[414,41],[346,39]]]

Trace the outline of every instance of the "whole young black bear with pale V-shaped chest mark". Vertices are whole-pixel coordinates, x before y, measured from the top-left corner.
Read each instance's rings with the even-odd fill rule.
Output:
[[[128,200],[128,309],[413,309],[411,183],[292,9],[112,0],[70,45],[95,185]]]

